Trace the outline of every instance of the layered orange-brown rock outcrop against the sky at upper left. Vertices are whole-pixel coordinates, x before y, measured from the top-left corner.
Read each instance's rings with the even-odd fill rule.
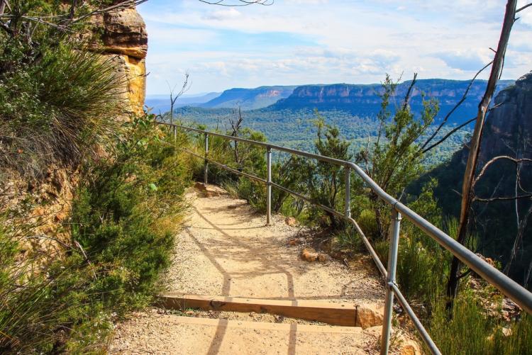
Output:
[[[148,33],[140,13],[134,8],[120,9],[96,16],[93,20],[96,40],[93,48],[116,62],[118,75],[126,79],[124,98],[131,113],[142,114],[146,90]]]

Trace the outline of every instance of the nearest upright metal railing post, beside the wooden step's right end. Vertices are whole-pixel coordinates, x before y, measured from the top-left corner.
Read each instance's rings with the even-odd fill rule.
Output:
[[[401,213],[392,209],[392,225],[390,226],[389,254],[388,254],[388,277],[386,285],[386,298],[384,300],[384,319],[382,320],[382,336],[380,354],[388,354],[389,339],[392,333],[392,313],[394,310],[394,291],[390,284],[395,283],[395,271],[397,269],[397,249],[399,248],[399,229],[401,227]]]

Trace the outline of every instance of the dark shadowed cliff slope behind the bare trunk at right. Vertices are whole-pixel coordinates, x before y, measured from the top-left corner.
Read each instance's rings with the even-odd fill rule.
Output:
[[[494,101],[500,105],[487,116],[482,136],[479,170],[490,159],[500,155],[532,159],[532,72],[518,79],[515,85],[499,92]],[[439,186],[436,197],[448,215],[460,212],[460,197],[453,191],[461,191],[462,178],[467,162],[468,149],[462,147],[449,162],[433,169],[421,181],[436,177]],[[508,160],[492,164],[477,183],[475,193],[480,198],[515,196],[516,165]],[[532,190],[532,164],[521,165],[519,194]],[[522,198],[517,204],[521,220],[532,206],[530,198]],[[507,261],[517,234],[516,203],[494,201],[477,203],[475,208],[476,230],[480,237],[480,252],[487,257]],[[524,235],[532,233],[532,215],[528,215],[528,227]],[[532,240],[523,238],[523,244],[510,271],[510,276],[522,283],[532,259]],[[504,265],[503,265],[504,266]]]

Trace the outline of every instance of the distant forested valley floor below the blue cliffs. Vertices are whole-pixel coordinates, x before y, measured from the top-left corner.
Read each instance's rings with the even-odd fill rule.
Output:
[[[233,118],[235,110],[231,108],[194,108],[183,107],[174,110],[177,117],[184,125],[204,125],[209,130],[226,131],[231,127],[227,124],[229,118]],[[315,115],[311,109],[301,110],[269,110],[262,108],[260,110],[243,111],[243,126],[262,132],[269,142],[284,147],[290,147],[298,150],[310,152],[314,150],[314,137],[317,134],[317,127],[314,124]],[[337,127],[340,135],[350,142],[350,152],[355,154],[362,148],[367,147],[368,140],[370,143],[377,140],[379,123],[373,116],[353,115],[346,111],[328,110],[320,111],[320,115],[325,123]],[[438,133],[437,137],[443,137],[454,126],[448,125]],[[430,136],[436,127],[431,125],[427,128],[419,141]],[[470,128],[464,128],[452,135],[442,145],[439,145],[431,154],[423,157],[423,165],[433,167],[436,164],[445,162],[452,154],[460,149],[466,141],[467,135],[471,132]]]

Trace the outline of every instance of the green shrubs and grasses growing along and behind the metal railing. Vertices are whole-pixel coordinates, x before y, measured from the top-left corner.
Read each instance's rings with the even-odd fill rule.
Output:
[[[423,111],[417,116],[408,105],[406,96],[400,109],[393,113],[389,109],[389,98],[393,96],[395,84],[387,78],[384,82],[382,110],[379,113],[376,139],[358,150],[355,160],[362,169],[385,190],[401,198],[411,208],[427,220],[455,236],[458,223],[453,218],[445,218],[434,191],[438,188],[436,179],[428,179],[416,195],[406,191],[409,182],[419,179],[427,170],[426,157],[419,152],[418,142],[431,130],[431,123],[438,113],[438,103],[423,101]],[[229,114],[229,113],[228,113]],[[352,140],[342,137],[341,130],[328,123],[321,113],[314,119],[316,140],[313,151],[317,154],[350,159],[352,157]],[[245,121],[244,121],[245,122]],[[249,124],[249,123],[248,123]],[[261,133],[243,128],[241,131],[223,130],[218,123],[218,132],[239,137],[256,137],[261,141]],[[234,124],[231,124],[234,128]],[[204,126],[202,126],[204,128]],[[270,130],[271,131],[271,130]],[[252,138],[253,139],[253,138]],[[193,137],[192,145],[198,154],[203,153],[203,137]],[[243,147],[239,143],[239,154],[248,154],[250,160],[238,162],[233,143],[218,138],[211,141],[209,155],[218,162],[229,164],[234,169],[265,176],[265,150],[257,147]],[[214,151],[213,151],[214,150]],[[245,152],[245,153],[243,153]],[[253,157],[253,158],[251,158]],[[287,157],[278,154],[272,167],[273,181],[294,191],[304,193],[317,203],[336,210],[343,210],[345,181],[342,169],[331,164],[312,162],[300,157]],[[201,176],[201,159],[197,160],[196,174]],[[265,187],[227,171],[220,171],[213,164],[209,165],[209,179],[225,186],[240,198],[245,198],[258,208],[265,205]],[[223,179],[220,179],[223,176]],[[389,207],[380,202],[372,191],[366,188],[354,174],[351,177],[353,198],[351,211],[365,235],[370,239],[377,254],[384,263],[388,257]],[[254,191],[254,193],[252,193]],[[354,230],[345,227],[333,215],[317,208],[306,206],[297,198],[273,190],[273,204],[284,215],[294,215],[301,222],[328,228],[341,248],[350,248],[363,252],[360,237]],[[467,247],[475,249],[478,239],[469,237]],[[501,316],[502,296],[492,286],[475,275],[466,274],[462,283],[462,292],[457,300],[458,307],[453,310],[452,321],[445,311],[445,283],[450,270],[451,255],[445,249],[425,235],[421,230],[404,220],[399,241],[399,264],[397,282],[406,298],[414,305],[416,312],[429,332],[434,335],[436,344],[444,354],[529,354],[531,327],[529,317],[508,320]],[[472,287],[472,285],[480,285]],[[511,329],[511,335],[504,335],[503,327]],[[519,335],[518,335],[519,334]],[[470,341],[475,337],[475,342]]]

